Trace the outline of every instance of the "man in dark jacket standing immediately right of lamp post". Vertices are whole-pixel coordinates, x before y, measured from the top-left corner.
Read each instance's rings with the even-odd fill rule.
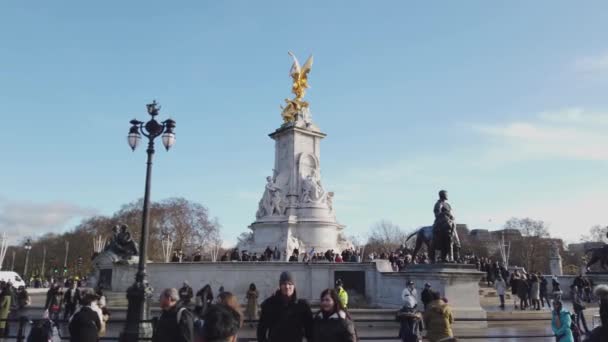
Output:
[[[152,342],[192,342],[193,319],[188,309],[177,304],[177,289],[165,289],[160,295],[163,310],[152,335]]]

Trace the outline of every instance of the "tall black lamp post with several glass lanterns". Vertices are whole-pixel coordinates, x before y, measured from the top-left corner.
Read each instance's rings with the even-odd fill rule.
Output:
[[[162,142],[167,151],[175,143],[175,121],[167,119],[163,122],[155,120],[155,116],[158,115],[160,107],[157,107],[156,101],[146,105],[148,114],[152,117],[148,122],[144,123],[138,120],[131,120],[131,129],[129,129],[129,135],[127,141],[133,151],[137,148],[141,136],[148,138],[148,160],[146,163],[146,186],[144,193],[144,208],[143,208],[143,219],[141,227],[141,239],[139,243],[139,264],[137,267],[137,273],[135,274],[135,283],[127,289],[127,300],[129,302],[127,307],[127,323],[124,331],[120,335],[120,341],[122,342],[136,342],[140,335],[142,337],[149,337],[151,335],[150,324],[141,324],[141,321],[148,320],[149,318],[149,306],[148,298],[152,292],[152,289],[148,285],[146,280],[146,260],[148,251],[148,224],[150,221],[150,184],[152,178],[152,157],[154,156],[154,139],[162,135]]]

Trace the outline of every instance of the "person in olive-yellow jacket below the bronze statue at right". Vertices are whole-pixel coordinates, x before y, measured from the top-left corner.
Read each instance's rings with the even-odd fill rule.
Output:
[[[433,300],[422,315],[427,329],[426,338],[430,342],[454,341],[452,309],[441,299],[439,292],[431,292],[431,298]]]

